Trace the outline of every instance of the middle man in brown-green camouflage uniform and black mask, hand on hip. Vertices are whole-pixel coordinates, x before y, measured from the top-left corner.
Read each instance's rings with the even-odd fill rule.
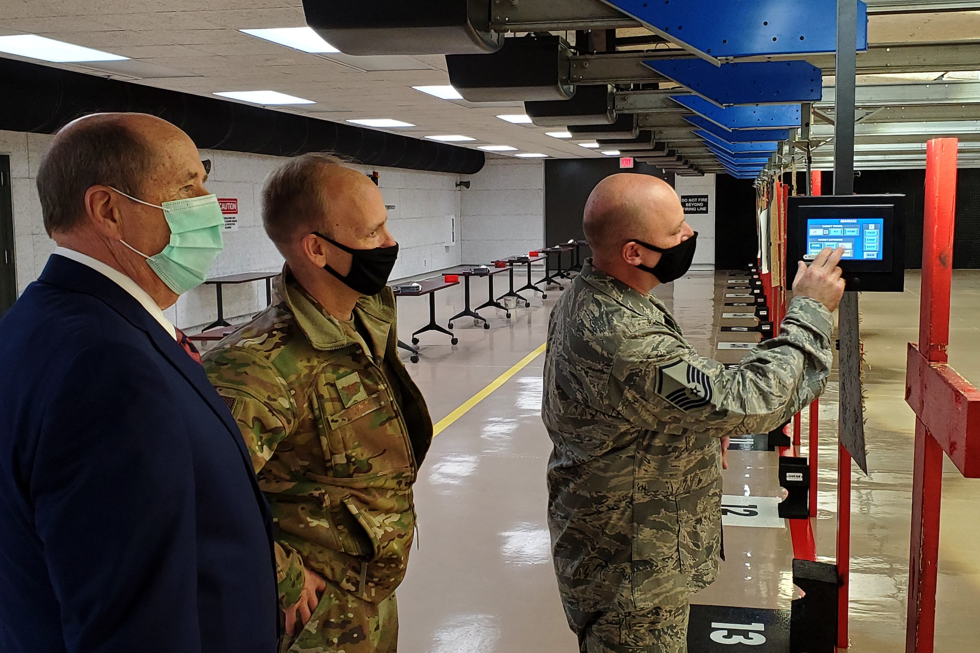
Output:
[[[412,485],[432,439],[396,349],[397,244],[378,189],[328,157],[280,166],[263,201],[286,258],[272,303],[204,361],[272,506],[280,651],[395,651]]]

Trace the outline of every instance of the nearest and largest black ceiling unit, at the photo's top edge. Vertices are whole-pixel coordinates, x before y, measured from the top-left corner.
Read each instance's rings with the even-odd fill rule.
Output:
[[[490,0],[303,0],[307,24],[347,55],[470,55],[496,52]]]

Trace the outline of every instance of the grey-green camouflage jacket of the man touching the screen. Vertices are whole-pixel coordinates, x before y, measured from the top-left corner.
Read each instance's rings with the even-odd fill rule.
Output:
[[[819,396],[831,316],[796,298],[738,369],[684,340],[666,307],[587,260],[548,330],[542,417],[555,570],[566,606],[675,605],[712,583],[722,436],[766,432]]]

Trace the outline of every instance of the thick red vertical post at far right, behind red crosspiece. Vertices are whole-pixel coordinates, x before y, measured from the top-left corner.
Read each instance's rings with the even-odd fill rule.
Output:
[[[947,362],[953,235],[956,228],[956,138],[936,138],[926,146],[925,219],[922,229],[922,292],[919,350],[933,362]],[[932,653],[936,632],[936,563],[943,498],[943,449],[915,420],[912,470],[912,531],[908,559],[907,653]]]

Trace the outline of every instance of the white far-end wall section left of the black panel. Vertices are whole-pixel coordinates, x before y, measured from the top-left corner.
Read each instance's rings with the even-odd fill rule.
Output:
[[[463,262],[526,255],[545,245],[545,166],[541,161],[487,157],[461,193]]]

